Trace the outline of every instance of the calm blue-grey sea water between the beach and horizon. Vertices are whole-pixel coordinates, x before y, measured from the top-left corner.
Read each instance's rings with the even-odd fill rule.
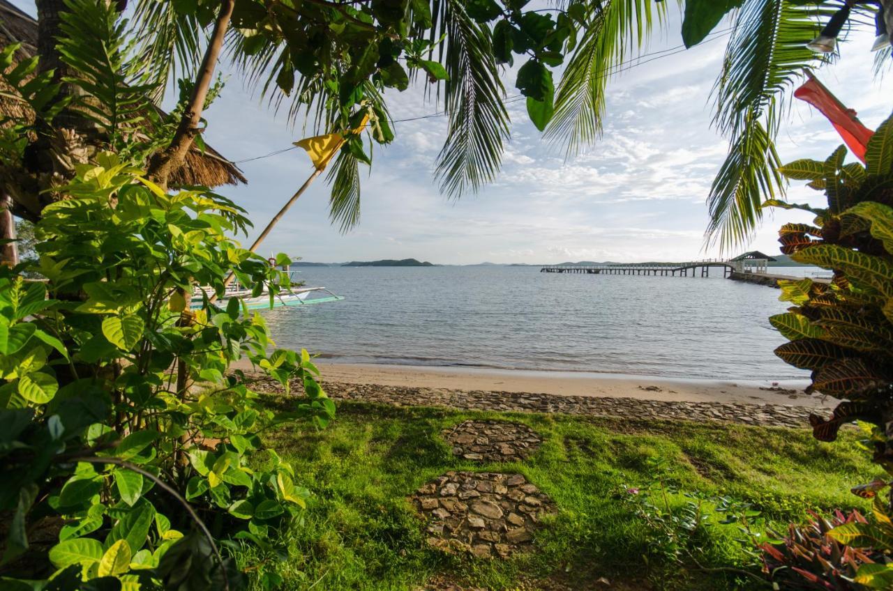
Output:
[[[803,275],[801,270],[774,269]],[[333,361],[803,379],[772,349],[779,291],[722,279],[538,267],[305,267],[346,299],[263,312],[277,344]],[[807,270],[808,274],[808,270]]]

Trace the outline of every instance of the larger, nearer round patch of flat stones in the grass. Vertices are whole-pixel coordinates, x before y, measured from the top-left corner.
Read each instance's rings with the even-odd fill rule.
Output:
[[[410,500],[426,521],[429,545],[478,558],[529,550],[540,518],[555,511],[521,474],[497,472],[449,471]]]

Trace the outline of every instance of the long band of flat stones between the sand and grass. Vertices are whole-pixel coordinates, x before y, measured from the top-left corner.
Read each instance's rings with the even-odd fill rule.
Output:
[[[300,392],[301,385],[298,382],[295,382],[293,387]],[[787,404],[666,402],[638,398],[463,391],[329,381],[325,382],[323,387],[334,400],[356,400],[396,406],[445,406],[460,410],[502,412],[563,412],[630,419],[710,420],[797,429],[807,429],[809,414],[815,412],[813,408]],[[261,392],[282,392],[280,385],[273,380],[257,383],[255,389]],[[830,414],[830,410],[827,414]]]

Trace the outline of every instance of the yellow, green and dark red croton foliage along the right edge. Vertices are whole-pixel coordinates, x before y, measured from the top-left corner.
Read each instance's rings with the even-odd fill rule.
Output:
[[[780,168],[789,179],[807,180],[820,190],[827,207],[788,204],[815,215],[812,224],[789,223],[780,229],[781,252],[797,262],[833,271],[830,283],[812,279],[780,281],[781,300],[789,312],[772,316],[772,326],[789,338],[775,350],[785,362],[812,371],[810,391],[842,400],[830,419],[810,416],[813,434],[833,441],[840,427],[864,421],[866,446],[873,460],[893,473],[893,117],[872,136],[865,166],[844,164],[840,146],[825,162],[798,160]],[[867,558],[893,551],[893,523],[887,479],[876,479],[853,492],[875,498],[873,520],[851,514],[792,527],[791,545],[782,552],[765,548],[767,564],[784,562],[809,588],[893,586],[893,568]],[[841,520],[837,516],[837,521]],[[822,546],[825,544],[826,546]],[[802,546],[802,547],[801,547]],[[857,548],[873,548],[859,551]],[[831,587],[829,587],[829,585]],[[843,587],[833,587],[839,585]]]

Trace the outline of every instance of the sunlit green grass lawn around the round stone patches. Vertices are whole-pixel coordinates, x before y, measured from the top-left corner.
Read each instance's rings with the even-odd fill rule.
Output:
[[[475,464],[456,459],[439,434],[467,419],[511,419],[544,438],[529,461]],[[296,482],[313,492],[302,522],[285,535],[279,564],[283,588],[415,589],[433,575],[491,589],[722,589],[755,587],[747,578],[705,572],[668,560],[650,540],[655,531],[636,515],[627,487],[655,479],[663,459],[679,493],[729,495],[757,505],[770,525],[803,520],[806,509],[864,507],[849,493],[877,474],[849,432],[822,444],[808,429],[620,420],[497,412],[450,412],[341,403],[338,418],[318,431],[296,422],[268,444],[292,462]],[[521,472],[550,495],[558,512],[537,537],[537,552],[510,561],[476,561],[426,547],[421,521],[406,496],[447,470]],[[638,497],[637,497],[638,498]],[[763,529],[761,522],[757,529]],[[697,533],[690,547],[708,568],[747,562],[735,525]],[[252,556],[242,554],[244,563]],[[530,583],[530,581],[534,581]],[[532,585],[532,586],[530,586]],[[566,588],[566,587],[562,587]]]

